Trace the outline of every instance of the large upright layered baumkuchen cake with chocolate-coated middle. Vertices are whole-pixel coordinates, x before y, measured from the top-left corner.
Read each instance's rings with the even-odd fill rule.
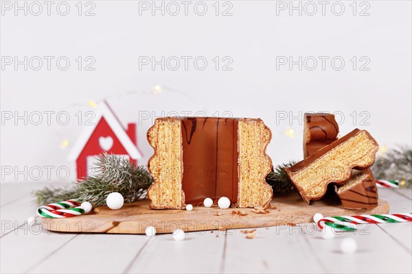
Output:
[[[148,130],[155,149],[148,169],[153,209],[179,209],[205,198],[228,197],[232,206],[267,207],[273,196],[266,146],[271,130],[261,119],[165,117]]]

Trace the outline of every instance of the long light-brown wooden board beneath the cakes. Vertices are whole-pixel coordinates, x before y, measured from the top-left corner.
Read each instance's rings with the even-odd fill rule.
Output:
[[[347,216],[355,214],[387,214],[389,203],[379,200],[372,210],[345,210],[337,196],[306,204],[297,193],[274,197],[266,214],[257,214],[252,208],[229,208],[218,206],[205,208],[194,206],[187,210],[150,210],[150,201],[126,203],[119,210],[107,206],[94,208],[89,214],[67,219],[42,218],[45,229],[55,232],[144,234],[148,225],[156,227],[157,233],[171,233],[176,228],[185,232],[225,230],[251,227],[271,227],[311,223],[315,213],[323,216]],[[242,214],[238,214],[241,212]],[[244,215],[246,214],[246,215]],[[242,216],[244,215],[244,216]]]

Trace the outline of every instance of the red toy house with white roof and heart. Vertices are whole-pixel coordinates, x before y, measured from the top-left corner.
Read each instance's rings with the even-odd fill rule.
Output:
[[[98,105],[95,121],[94,125],[84,126],[84,131],[69,154],[69,160],[76,160],[77,179],[91,173],[92,161],[103,151],[124,155],[135,164],[142,156],[137,148],[136,124],[129,123],[125,129],[106,101]]]

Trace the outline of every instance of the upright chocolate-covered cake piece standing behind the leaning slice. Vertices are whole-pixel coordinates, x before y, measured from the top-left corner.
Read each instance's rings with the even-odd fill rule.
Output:
[[[333,114],[305,113],[304,116],[304,158],[338,138],[339,126]]]

